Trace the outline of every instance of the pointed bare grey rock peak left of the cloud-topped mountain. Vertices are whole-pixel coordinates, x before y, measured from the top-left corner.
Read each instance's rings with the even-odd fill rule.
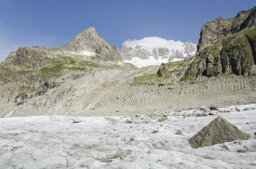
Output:
[[[90,27],[76,35],[69,43],[57,46],[57,48],[51,48],[51,50],[73,52],[76,54],[89,53],[88,55],[95,54],[95,57],[98,57],[100,60],[114,63],[123,62],[116,46],[111,46],[102,39],[94,27]]]

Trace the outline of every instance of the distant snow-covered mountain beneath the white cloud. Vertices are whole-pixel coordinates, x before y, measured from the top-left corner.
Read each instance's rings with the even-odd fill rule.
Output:
[[[123,45],[121,55],[124,62],[132,63],[137,67],[149,65],[160,65],[171,61],[184,60],[193,56],[196,52],[196,44],[192,42],[184,43],[176,51],[168,48],[147,48],[138,44],[134,48]]]

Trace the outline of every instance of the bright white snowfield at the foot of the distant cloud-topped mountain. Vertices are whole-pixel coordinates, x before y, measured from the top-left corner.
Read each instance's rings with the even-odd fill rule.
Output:
[[[169,58],[160,58],[156,60],[154,57],[149,56],[149,60],[142,60],[139,57],[134,57],[132,60],[124,60],[126,63],[132,63],[138,68],[142,68],[145,66],[151,66],[151,65],[160,65],[161,63],[168,63]]]

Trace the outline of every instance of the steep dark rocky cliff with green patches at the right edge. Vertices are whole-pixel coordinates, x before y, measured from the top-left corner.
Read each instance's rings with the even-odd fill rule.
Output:
[[[231,19],[204,24],[195,60],[187,79],[198,76],[250,75],[256,73],[256,7]]]

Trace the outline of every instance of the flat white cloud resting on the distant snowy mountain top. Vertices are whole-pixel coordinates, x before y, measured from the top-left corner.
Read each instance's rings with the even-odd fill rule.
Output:
[[[145,37],[141,40],[126,40],[123,45],[135,47],[138,44],[141,46],[145,46],[147,48],[168,48],[169,50],[177,50],[179,49],[184,43],[181,41],[175,40],[166,40],[161,37]]]

